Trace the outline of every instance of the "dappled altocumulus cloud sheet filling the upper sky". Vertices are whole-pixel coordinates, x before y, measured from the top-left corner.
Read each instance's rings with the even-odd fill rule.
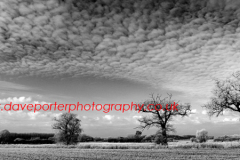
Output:
[[[0,74],[209,93],[240,67],[238,0],[2,0]],[[204,91],[203,91],[204,90]]]

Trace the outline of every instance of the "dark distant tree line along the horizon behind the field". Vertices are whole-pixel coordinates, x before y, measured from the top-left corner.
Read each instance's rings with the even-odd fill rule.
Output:
[[[195,138],[195,135],[168,135],[168,141],[173,140],[189,140]],[[121,142],[121,143],[141,143],[141,142],[155,142],[157,136],[142,135],[141,131],[136,131],[135,134],[128,135],[126,137],[92,137],[90,135],[81,134],[77,142]],[[8,144],[53,144],[57,143],[54,133],[10,133],[8,130],[0,132],[0,143]]]

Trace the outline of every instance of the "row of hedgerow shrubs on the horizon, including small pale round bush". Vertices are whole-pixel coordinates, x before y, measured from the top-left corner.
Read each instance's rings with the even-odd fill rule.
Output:
[[[195,135],[168,135],[168,142],[176,142],[177,140],[189,139],[192,142],[205,142],[207,139],[213,139],[213,136],[207,136],[206,130],[198,131],[198,138],[195,138]],[[5,138],[4,138],[5,136]],[[199,140],[199,136],[202,137],[204,141]],[[155,142],[159,138],[157,135],[142,136],[140,131],[137,131],[135,135],[129,135],[127,137],[109,137],[109,138],[100,138],[100,137],[91,137],[86,134],[82,134],[78,141],[79,142],[126,142],[126,143],[140,143],[140,142]],[[160,137],[161,139],[161,137]],[[215,142],[218,141],[236,141],[240,140],[240,137],[219,137],[214,139]],[[12,143],[12,144],[53,144],[55,143],[54,134],[52,133],[10,133],[7,130],[3,130],[0,134],[1,143]],[[155,142],[156,143],[156,142]],[[159,143],[157,143],[159,144]]]

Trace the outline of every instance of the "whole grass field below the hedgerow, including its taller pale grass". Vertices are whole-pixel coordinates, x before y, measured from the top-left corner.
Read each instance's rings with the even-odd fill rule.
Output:
[[[221,144],[223,147],[217,148],[197,148],[196,144],[189,142],[178,142],[175,145],[172,143],[169,148],[151,143],[81,143],[76,146],[0,145],[0,160],[240,160],[240,148],[231,148],[230,143],[232,146],[239,144],[223,142]],[[213,145],[213,142],[205,145],[207,144]]]

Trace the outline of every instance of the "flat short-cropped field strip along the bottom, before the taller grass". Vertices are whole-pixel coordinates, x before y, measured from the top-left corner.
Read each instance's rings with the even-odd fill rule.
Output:
[[[138,159],[138,160],[240,160],[240,149],[78,149],[78,148],[1,148],[0,160],[58,159]]]

